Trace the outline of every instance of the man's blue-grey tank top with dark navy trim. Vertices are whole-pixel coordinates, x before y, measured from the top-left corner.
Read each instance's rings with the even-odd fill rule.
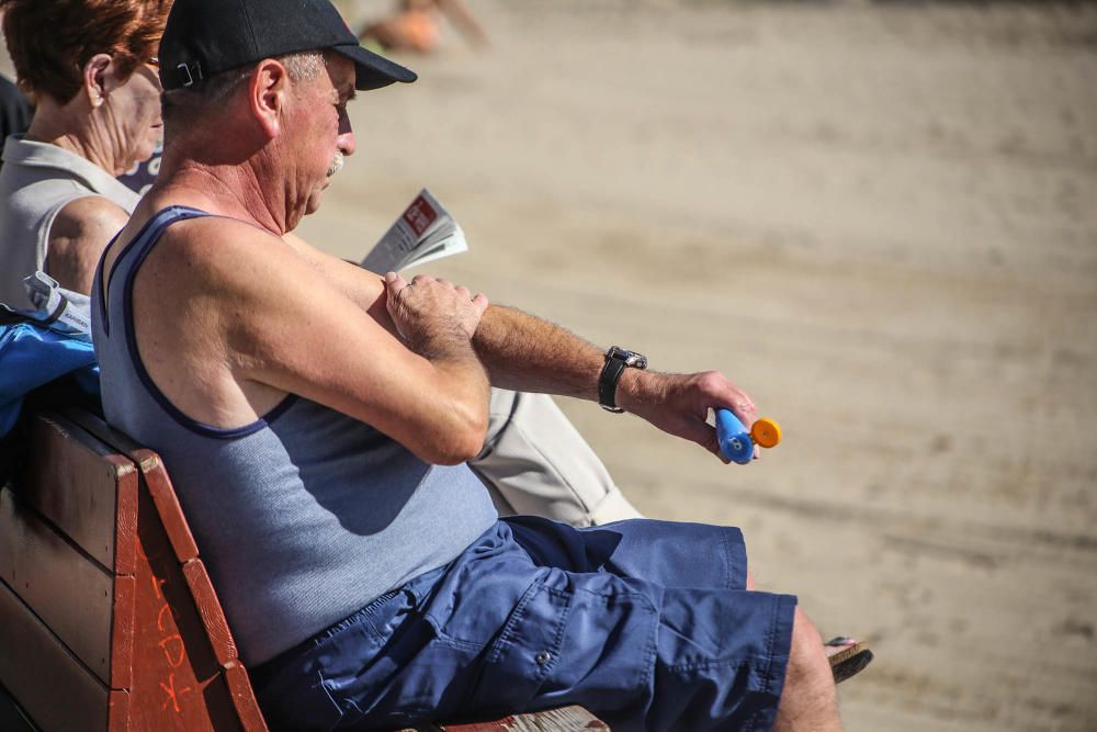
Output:
[[[256,665],[453,560],[497,519],[465,465],[416,458],[373,427],[291,395],[253,424],[203,425],[149,378],[134,278],[173,222],[158,212],[92,295],[108,421],[160,454],[236,639]]]

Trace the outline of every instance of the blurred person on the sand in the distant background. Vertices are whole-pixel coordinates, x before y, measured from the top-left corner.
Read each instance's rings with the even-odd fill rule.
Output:
[[[487,34],[463,0],[400,0],[392,15],[367,24],[358,37],[386,52],[429,54],[441,43],[443,16],[474,46],[488,44]]]

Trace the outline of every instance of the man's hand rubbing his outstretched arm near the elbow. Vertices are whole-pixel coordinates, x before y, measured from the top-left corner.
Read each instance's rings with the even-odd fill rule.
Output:
[[[396,272],[385,275],[386,306],[408,347],[430,358],[437,342],[459,337],[468,341],[479,325],[487,297],[464,285],[417,274],[407,282]]]

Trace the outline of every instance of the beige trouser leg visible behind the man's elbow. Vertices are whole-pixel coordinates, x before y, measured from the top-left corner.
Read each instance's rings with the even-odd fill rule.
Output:
[[[484,450],[468,466],[501,516],[534,514],[573,526],[640,517],[548,395],[493,388],[489,417]]]

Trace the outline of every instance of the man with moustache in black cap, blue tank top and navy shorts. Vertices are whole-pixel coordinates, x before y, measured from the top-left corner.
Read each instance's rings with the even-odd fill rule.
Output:
[[[354,90],[415,79],[328,0],[177,0],[160,63],[160,178],[93,286],[104,408],[171,470],[272,728],[565,703],[622,730],[840,728],[818,633],[748,589],[737,529],[500,521],[464,465],[489,383],[714,453],[708,410],[749,424],[743,391],[291,235],[354,153]]]

